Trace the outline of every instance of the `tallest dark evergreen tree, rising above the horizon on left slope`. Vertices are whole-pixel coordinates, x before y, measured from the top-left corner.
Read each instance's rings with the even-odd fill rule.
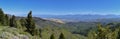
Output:
[[[27,25],[27,31],[31,34],[34,35],[34,30],[35,30],[35,23],[32,18],[32,11],[28,13],[27,19],[26,19]]]

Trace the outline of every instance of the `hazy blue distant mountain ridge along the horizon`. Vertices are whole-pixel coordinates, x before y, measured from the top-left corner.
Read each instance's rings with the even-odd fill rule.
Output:
[[[39,17],[42,18],[55,18],[55,19],[61,19],[63,21],[86,21],[86,22],[91,22],[91,21],[99,21],[99,20],[106,20],[106,19],[119,19],[120,15],[91,15],[91,14],[86,14],[86,15],[40,15]]]

